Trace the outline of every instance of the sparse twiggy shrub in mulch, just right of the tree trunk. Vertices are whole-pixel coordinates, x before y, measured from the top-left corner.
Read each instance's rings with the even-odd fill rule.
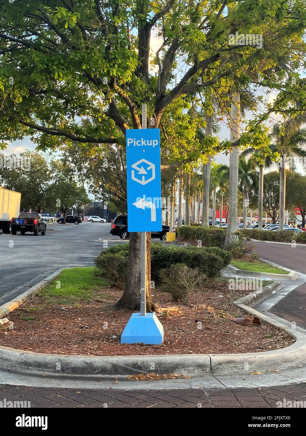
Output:
[[[161,269],[159,277],[161,290],[170,292],[173,301],[189,302],[194,290],[203,285],[205,276],[199,268],[190,268],[185,263],[175,263],[169,268]]]

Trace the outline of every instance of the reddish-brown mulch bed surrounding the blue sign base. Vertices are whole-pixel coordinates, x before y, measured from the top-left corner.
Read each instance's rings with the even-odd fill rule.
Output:
[[[120,335],[131,316],[131,311],[113,307],[122,290],[102,286],[91,301],[78,300],[72,306],[37,295],[8,316],[14,330],[0,326],[0,345],[47,354],[117,356],[248,353],[292,344],[292,337],[270,324],[247,327],[227,319],[227,313],[234,317],[246,315],[232,303],[248,292],[228,290],[227,282],[210,281],[186,304],[173,303],[169,293],[154,289],[153,301],[164,308],[157,314],[165,330],[161,346],[120,344]],[[220,295],[223,297],[216,298]],[[25,320],[27,317],[34,320]]]

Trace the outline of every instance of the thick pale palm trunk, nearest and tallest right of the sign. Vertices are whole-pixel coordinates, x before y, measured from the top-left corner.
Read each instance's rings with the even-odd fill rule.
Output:
[[[235,142],[240,138],[240,94],[234,94],[230,111],[230,140]],[[239,149],[233,147],[230,153],[230,193],[229,193],[229,222],[225,237],[224,246],[235,242],[234,233],[237,232],[237,211],[238,211],[238,169]]]

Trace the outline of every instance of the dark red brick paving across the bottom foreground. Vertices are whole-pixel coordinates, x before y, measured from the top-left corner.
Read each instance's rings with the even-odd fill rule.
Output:
[[[31,408],[271,407],[283,399],[306,404],[306,383],[258,389],[117,390],[28,388],[0,385],[0,401],[30,401]]]

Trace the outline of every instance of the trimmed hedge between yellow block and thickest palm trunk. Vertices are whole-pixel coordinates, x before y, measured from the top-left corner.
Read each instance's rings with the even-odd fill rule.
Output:
[[[219,248],[224,245],[226,232],[225,228],[218,227],[182,226],[176,229],[179,238],[202,241],[203,246]]]

